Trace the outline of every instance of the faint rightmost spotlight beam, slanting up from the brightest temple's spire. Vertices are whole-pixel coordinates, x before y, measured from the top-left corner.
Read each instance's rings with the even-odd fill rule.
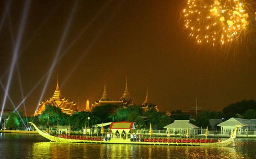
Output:
[[[76,65],[73,67],[73,69],[70,71],[70,73],[68,74],[68,76],[65,78],[65,80],[62,82],[62,85],[60,86],[63,87],[63,85],[66,83],[66,81],[68,80],[68,78],[71,76],[71,74],[73,74],[73,72],[75,71],[75,69],[77,68],[77,66],[79,66],[80,62],[82,61],[82,59],[85,57],[85,55],[91,50],[93,44],[96,42],[96,40],[98,40],[99,36],[102,34],[103,30],[107,27],[107,25],[109,24],[110,20],[113,18],[113,16],[115,15],[115,13],[118,11],[119,7],[121,6],[121,4],[123,3],[123,1],[121,1],[118,5],[118,7],[116,8],[116,10],[111,14],[111,16],[109,17],[108,21],[103,25],[103,27],[101,28],[101,30],[98,32],[98,34],[93,38],[93,40],[91,41],[91,43],[89,44],[89,46],[87,47],[87,49],[85,50],[85,52],[82,54],[82,56],[79,58],[78,62],[76,62]]]

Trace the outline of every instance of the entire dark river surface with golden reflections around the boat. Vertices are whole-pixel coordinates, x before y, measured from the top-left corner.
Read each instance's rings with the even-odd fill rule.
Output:
[[[256,139],[236,140],[234,147],[125,144],[61,144],[38,134],[0,133],[0,159],[256,159]]]

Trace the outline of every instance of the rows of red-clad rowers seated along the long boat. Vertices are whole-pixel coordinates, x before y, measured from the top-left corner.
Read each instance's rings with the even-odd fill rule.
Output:
[[[89,137],[89,136],[81,136],[81,135],[65,135],[65,134],[61,134],[59,135],[59,137],[61,138],[68,138],[68,139],[75,139],[75,140],[88,140],[88,141],[107,141],[107,140],[104,140],[104,138],[102,137],[98,137],[98,136],[92,136],[92,137]],[[131,140],[132,142],[158,142],[158,143],[214,143],[216,141],[214,141],[212,138],[210,140],[208,139],[194,139],[194,138],[186,138],[186,139],[183,139],[183,138],[166,138],[166,137],[162,137],[162,138],[151,138],[151,137],[148,137],[148,138],[138,138],[137,140]],[[218,141],[220,142],[220,141]]]

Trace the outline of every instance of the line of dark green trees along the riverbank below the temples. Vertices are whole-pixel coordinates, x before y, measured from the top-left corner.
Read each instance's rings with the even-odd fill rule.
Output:
[[[20,112],[22,116],[22,112]],[[59,107],[46,105],[42,114],[29,117],[28,121],[33,121],[37,125],[46,127],[47,125],[70,125],[73,130],[81,130],[87,127],[99,124],[101,122],[116,122],[116,121],[132,121],[136,122],[137,129],[149,129],[152,123],[152,129],[163,129],[164,126],[174,122],[174,120],[190,120],[191,123],[198,127],[210,130],[216,130],[218,127],[210,125],[210,119],[227,120],[237,115],[242,115],[245,119],[256,119],[256,101],[243,100],[232,103],[223,108],[222,111],[204,110],[199,112],[197,118],[191,120],[191,115],[183,113],[181,110],[172,111],[170,116],[165,112],[158,112],[154,105],[148,107],[144,111],[141,105],[128,106],[126,108],[116,105],[103,105],[93,108],[92,112],[75,112],[73,115],[64,114]],[[90,117],[90,120],[88,120]],[[23,116],[23,122],[26,123],[26,118]],[[22,127],[21,119],[16,112],[10,112],[6,127],[9,129],[16,129]]]

